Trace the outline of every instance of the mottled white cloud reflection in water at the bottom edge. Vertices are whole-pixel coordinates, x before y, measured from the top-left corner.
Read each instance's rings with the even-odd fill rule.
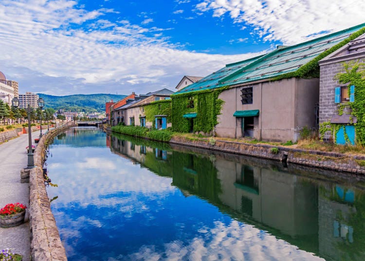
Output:
[[[176,240],[164,244],[163,252],[154,245],[144,245],[124,260],[321,260],[283,240],[276,239],[252,225],[232,221],[215,222],[201,227],[201,236],[188,242]]]

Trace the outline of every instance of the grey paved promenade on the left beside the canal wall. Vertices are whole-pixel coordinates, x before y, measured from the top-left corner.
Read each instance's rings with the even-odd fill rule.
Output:
[[[32,141],[39,131],[32,132]],[[0,208],[8,203],[21,203],[29,206],[29,183],[20,183],[20,170],[27,167],[28,134],[0,144]],[[29,261],[30,229],[27,209],[25,223],[11,228],[0,228],[0,250],[10,248],[13,253]]]

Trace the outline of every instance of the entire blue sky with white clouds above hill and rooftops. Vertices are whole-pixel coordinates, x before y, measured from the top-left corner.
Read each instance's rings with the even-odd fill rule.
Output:
[[[19,93],[148,93],[365,22],[353,0],[0,0]]]

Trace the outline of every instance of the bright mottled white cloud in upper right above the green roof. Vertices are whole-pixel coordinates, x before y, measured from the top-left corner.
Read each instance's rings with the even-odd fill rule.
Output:
[[[363,23],[365,1],[203,0],[196,8],[213,11],[213,17],[228,14],[234,23],[256,27],[255,34],[264,41],[295,44]]]

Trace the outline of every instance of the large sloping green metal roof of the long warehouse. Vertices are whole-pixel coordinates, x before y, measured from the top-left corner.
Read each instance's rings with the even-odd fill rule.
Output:
[[[302,65],[310,62],[363,27],[365,27],[365,23],[304,43],[276,49],[263,56],[227,64],[217,72],[202,78],[175,94],[249,83],[295,72]]]

